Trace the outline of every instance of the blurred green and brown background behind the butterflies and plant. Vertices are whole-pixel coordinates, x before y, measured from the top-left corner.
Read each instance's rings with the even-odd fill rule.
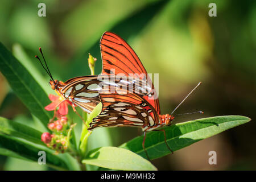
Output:
[[[46,17],[38,16],[40,2],[46,3]],[[217,5],[217,17],[208,15],[211,2]],[[176,114],[204,114],[183,115],[174,123],[216,115],[256,117],[256,1],[2,0],[0,14],[0,41],[42,73],[39,81],[49,80],[34,59],[39,47],[54,78],[90,75],[89,52],[98,59],[98,74],[101,35],[113,31],[134,48],[148,73],[159,73],[162,114],[171,113],[193,86],[203,82]],[[48,84],[44,88],[52,93]],[[37,125],[2,75],[0,104],[2,117]],[[252,121],[152,163],[160,170],[255,170],[255,131]],[[89,145],[119,146],[139,134],[140,129],[130,127],[99,129]],[[217,165],[208,163],[212,150],[217,152]],[[49,168],[0,156],[0,169]]]

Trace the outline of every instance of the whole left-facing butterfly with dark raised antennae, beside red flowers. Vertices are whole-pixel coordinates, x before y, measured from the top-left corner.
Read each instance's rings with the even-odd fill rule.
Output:
[[[68,100],[75,112],[75,106],[79,106],[86,113],[91,113],[94,107],[100,103],[98,91],[102,89],[102,86],[107,90],[114,86],[114,92],[115,90],[118,90],[118,93],[122,92],[123,94],[126,93],[127,90],[144,96],[147,96],[151,92],[151,90],[148,90],[150,87],[145,81],[134,77],[129,78],[123,75],[116,76],[104,74],[98,76],[80,76],[71,78],[65,82],[54,80],[46,60],[44,59],[42,49],[39,48],[39,51],[43,56],[45,66],[38,56],[35,57],[40,61],[40,64],[51,78],[49,81],[51,88],[64,98],[63,101]]]

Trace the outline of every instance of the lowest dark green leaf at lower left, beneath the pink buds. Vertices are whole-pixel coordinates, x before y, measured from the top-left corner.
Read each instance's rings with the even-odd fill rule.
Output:
[[[69,169],[67,162],[59,156],[52,154],[47,147],[36,146],[23,140],[0,134],[0,155],[11,156],[19,159],[26,159],[38,162],[39,151],[46,152],[46,164],[56,169]]]

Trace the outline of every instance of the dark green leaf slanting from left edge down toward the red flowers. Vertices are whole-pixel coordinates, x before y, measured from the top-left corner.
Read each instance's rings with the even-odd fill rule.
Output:
[[[46,92],[2,43],[0,43],[0,71],[23,104],[47,127],[51,117],[44,109],[44,106],[50,103]]]

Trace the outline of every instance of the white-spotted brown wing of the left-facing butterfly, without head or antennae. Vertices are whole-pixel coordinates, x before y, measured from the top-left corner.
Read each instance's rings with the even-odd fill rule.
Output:
[[[137,93],[140,96],[152,94],[152,89],[146,81],[138,78],[119,76],[83,76],[66,81],[60,89],[63,97],[81,107],[86,113],[100,103],[99,92],[104,94]]]

